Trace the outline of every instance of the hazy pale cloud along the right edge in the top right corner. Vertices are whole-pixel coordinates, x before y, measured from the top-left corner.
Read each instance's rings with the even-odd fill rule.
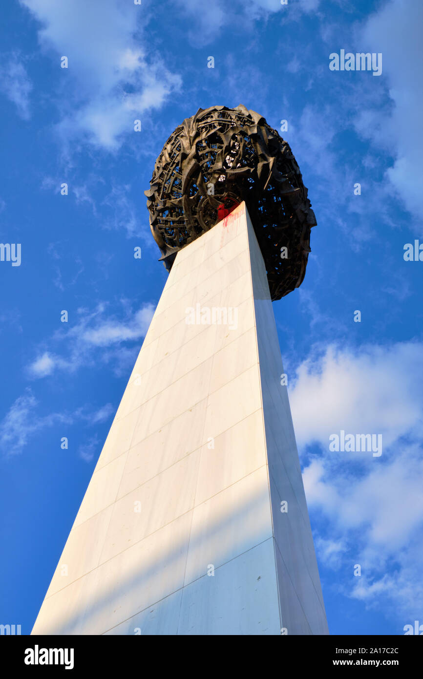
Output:
[[[369,17],[357,37],[363,48],[382,52],[382,77],[388,81],[388,93],[394,103],[388,115],[374,109],[367,124],[363,118],[358,119],[357,128],[393,151],[396,158],[386,176],[407,210],[419,218],[423,185],[422,24],[421,0],[409,0],[407,7],[403,0],[390,0]]]

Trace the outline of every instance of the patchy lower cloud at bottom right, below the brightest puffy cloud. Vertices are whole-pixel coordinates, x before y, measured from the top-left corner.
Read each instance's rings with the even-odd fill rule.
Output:
[[[422,475],[422,449],[407,445],[361,477],[334,469],[325,457],[304,472],[308,505],[325,517],[315,540],[318,557],[340,569],[335,589],[402,619],[399,631],[423,608]],[[339,549],[331,551],[332,543]],[[361,576],[342,579],[352,564],[361,565]]]

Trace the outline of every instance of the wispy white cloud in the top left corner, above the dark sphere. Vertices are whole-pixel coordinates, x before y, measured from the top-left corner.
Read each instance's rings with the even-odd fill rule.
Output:
[[[68,143],[82,136],[115,151],[122,135],[134,133],[134,119],[161,107],[181,86],[159,58],[151,58],[136,39],[143,14],[119,0],[20,0],[41,22],[45,52],[67,56],[62,77],[73,88],[73,112],[62,110],[58,132]],[[72,91],[72,90],[71,90]]]

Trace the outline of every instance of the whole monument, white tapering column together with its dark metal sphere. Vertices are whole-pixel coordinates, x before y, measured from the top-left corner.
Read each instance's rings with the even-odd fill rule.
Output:
[[[295,158],[200,109],[145,193],[168,279],[33,634],[328,634],[272,310],[316,223]]]

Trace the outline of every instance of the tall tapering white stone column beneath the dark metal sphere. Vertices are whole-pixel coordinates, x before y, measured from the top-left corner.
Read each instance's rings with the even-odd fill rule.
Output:
[[[33,634],[328,633],[282,373],[243,203],[174,261]]]

